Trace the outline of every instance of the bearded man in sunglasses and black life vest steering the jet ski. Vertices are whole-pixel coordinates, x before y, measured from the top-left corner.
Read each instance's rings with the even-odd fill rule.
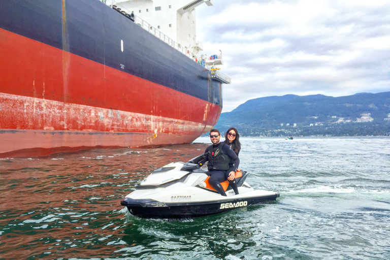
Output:
[[[209,162],[209,183],[219,194],[226,196],[221,182],[224,182],[226,179],[229,181],[234,180],[240,159],[229,145],[219,141],[220,138],[221,133],[218,129],[211,129],[210,139],[213,144],[206,148],[205,158],[199,162],[199,165],[202,166],[206,161]],[[229,167],[231,159],[234,160],[234,164]],[[238,194],[238,191],[235,190],[235,193]]]

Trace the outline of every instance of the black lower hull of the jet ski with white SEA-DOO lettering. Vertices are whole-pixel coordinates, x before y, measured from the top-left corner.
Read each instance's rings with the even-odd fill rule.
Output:
[[[126,206],[132,215],[143,218],[193,218],[275,201],[276,198],[279,197],[279,193],[272,192],[270,194],[250,198],[234,197],[236,196],[225,197],[225,199],[216,201],[177,203],[165,203],[151,199],[132,199],[126,197],[122,199],[121,205]]]

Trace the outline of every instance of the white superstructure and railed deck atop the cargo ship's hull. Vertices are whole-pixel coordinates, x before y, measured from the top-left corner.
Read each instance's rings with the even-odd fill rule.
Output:
[[[201,55],[203,44],[197,41],[196,7],[213,6],[213,0],[102,0],[119,12],[134,14],[135,22],[151,34],[211,70],[212,77],[230,84],[230,77],[215,66],[222,65],[219,55]]]

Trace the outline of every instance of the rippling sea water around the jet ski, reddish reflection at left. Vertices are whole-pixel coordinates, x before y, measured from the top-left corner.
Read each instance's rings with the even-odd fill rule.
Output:
[[[120,200],[209,143],[0,159],[0,259],[390,259],[390,138],[242,138],[274,203],[181,221]]]

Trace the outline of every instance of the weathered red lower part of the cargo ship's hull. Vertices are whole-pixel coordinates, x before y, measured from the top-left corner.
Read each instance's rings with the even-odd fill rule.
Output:
[[[2,28],[0,44],[0,157],[190,143],[221,113],[220,105]]]

